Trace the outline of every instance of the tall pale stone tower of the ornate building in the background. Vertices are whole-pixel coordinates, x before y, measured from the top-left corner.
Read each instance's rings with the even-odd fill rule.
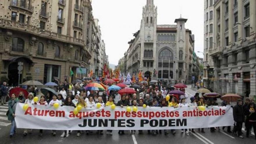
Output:
[[[157,34],[157,8],[154,0],[146,0],[143,7],[140,39],[141,39],[141,66],[146,76],[146,72],[153,72],[156,68],[156,34]],[[146,65],[145,65],[146,63]],[[153,66],[152,66],[153,63]],[[149,65],[148,65],[149,64]],[[151,76],[152,77],[152,76]]]

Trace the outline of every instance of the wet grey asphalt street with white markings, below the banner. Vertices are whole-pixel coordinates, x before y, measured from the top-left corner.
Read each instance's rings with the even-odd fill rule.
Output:
[[[186,88],[186,93],[189,97],[195,94],[195,91],[191,88]],[[238,138],[232,136],[232,134],[226,131],[210,132],[209,128],[205,128],[205,133],[201,133],[198,129],[195,129],[195,133],[185,134],[180,130],[176,130],[176,135],[170,134],[165,136],[163,133],[157,136],[148,135],[147,131],[143,131],[143,134],[131,135],[130,131],[125,131],[125,135],[118,135],[118,131],[113,131],[113,136],[106,135],[104,131],[103,135],[96,134],[96,131],[92,131],[89,135],[83,133],[80,137],[76,136],[76,131],[72,131],[71,135],[63,138],[63,131],[57,131],[57,135],[54,137],[51,135],[51,131],[44,131],[43,136],[39,136],[39,130],[33,130],[32,134],[28,134],[26,137],[22,135],[23,129],[18,129],[17,134],[12,138],[9,137],[10,122],[5,115],[8,107],[6,105],[0,106],[0,144],[34,144],[34,143],[101,143],[101,144],[169,144],[169,143],[195,143],[195,144],[243,144],[243,143],[256,143],[254,136],[250,138]],[[29,124],[28,124],[29,125]],[[226,129],[225,129],[226,130]],[[243,131],[245,137],[245,131]],[[253,133],[254,134],[254,133]]]

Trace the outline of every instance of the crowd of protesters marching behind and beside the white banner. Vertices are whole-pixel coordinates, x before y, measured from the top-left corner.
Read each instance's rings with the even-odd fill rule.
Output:
[[[185,93],[185,89],[176,89],[183,91],[185,95],[170,95],[168,92],[170,91],[168,88],[165,88],[161,83],[154,83],[151,85],[141,85],[141,89],[135,89],[137,93],[134,94],[125,94],[120,95],[118,91],[111,90],[107,92],[106,90],[103,92],[99,91],[86,91],[82,89],[86,86],[85,83],[74,83],[67,84],[67,82],[62,83],[56,89],[58,94],[47,93],[47,95],[41,95],[40,100],[38,102],[33,101],[34,94],[29,93],[28,98],[24,97],[24,94],[21,92],[18,96],[12,94],[10,96],[10,100],[8,101],[8,120],[11,121],[11,130],[10,137],[12,137],[16,133],[16,125],[15,125],[15,107],[17,103],[25,103],[25,104],[39,104],[39,105],[50,105],[53,106],[54,103],[59,103],[60,106],[72,106],[76,107],[81,105],[82,107],[95,107],[96,103],[101,103],[102,106],[111,106],[115,104],[116,106],[143,106],[146,104],[147,106],[157,106],[157,107],[181,107],[181,106],[227,106],[230,105],[230,102],[223,101],[221,104],[218,104],[216,98],[205,98],[202,94],[195,93],[194,97],[188,97]],[[3,83],[3,86],[6,86],[6,83]],[[111,86],[111,84],[109,85]],[[1,86],[1,94],[7,95],[5,89],[2,89]],[[167,100],[166,96],[169,95],[170,99]],[[3,101],[2,101],[3,102]],[[240,138],[242,136],[242,125],[245,122],[246,126],[246,137],[249,137],[252,128],[254,133],[256,134],[256,113],[255,113],[255,103],[253,100],[246,98],[243,104],[242,100],[239,99],[237,101],[237,105],[233,108],[234,115],[234,127],[231,130],[231,126],[227,127],[227,132],[233,135],[237,135]],[[222,127],[224,130],[225,127]],[[198,129],[200,132],[205,133],[204,128]],[[219,127],[211,127],[210,131],[214,132],[215,130],[220,130]],[[34,130],[35,131],[35,130]],[[23,135],[26,136],[28,133],[31,133],[32,129],[24,129]],[[71,131],[64,131],[64,137],[67,136],[67,132],[71,134]],[[89,135],[91,131],[86,130],[86,135]],[[175,135],[175,129],[172,129],[171,134]],[[182,133],[190,134],[194,133],[195,129],[182,129]],[[81,136],[83,131],[76,131],[77,136]],[[97,131],[98,134],[103,135],[102,130]],[[131,134],[135,134],[135,130],[131,130]],[[147,134],[157,135],[161,134],[162,130],[147,130]],[[165,135],[168,135],[167,130],[163,130]],[[107,134],[112,135],[112,130],[107,130]],[[118,134],[125,134],[123,130],[118,131]],[[138,134],[143,134],[142,130],[138,131]],[[39,135],[43,135],[43,130],[39,130]],[[56,136],[56,130],[52,130],[52,135]],[[255,136],[256,139],[256,136]]]

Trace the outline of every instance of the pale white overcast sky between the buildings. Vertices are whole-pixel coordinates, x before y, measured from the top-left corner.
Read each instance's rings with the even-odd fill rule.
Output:
[[[145,5],[146,0],[92,0],[93,16],[99,19],[109,63],[117,65],[124,56],[128,41],[140,28]],[[157,24],[175,24],[180,14],[188,19],[185,27],[195,35],[195,52],[203,57],[197,51],[204,51],[204,1],[154,0],[154,5],[158,11]]]

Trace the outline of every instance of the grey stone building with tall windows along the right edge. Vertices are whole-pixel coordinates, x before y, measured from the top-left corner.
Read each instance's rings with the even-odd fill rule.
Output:
[[[256,1],[215,0],[214,90],[256,95]]]

